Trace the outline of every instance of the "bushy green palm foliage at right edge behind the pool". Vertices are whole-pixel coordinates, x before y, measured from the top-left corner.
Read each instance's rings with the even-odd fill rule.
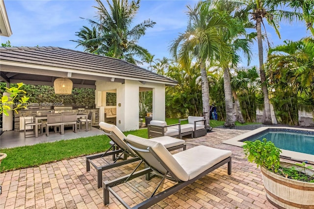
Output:
[[[314,40],[284,43],[269,50],[272,103],[282,123],[298,125],[298,109],[314,106]]]

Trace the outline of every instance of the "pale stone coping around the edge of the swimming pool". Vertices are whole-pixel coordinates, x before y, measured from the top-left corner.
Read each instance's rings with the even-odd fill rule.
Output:
[[[258,129],[255,129],[253,131],[249,131],[246,133],[243,133],[241,135],[235,136],[231,139],[228,139],[226,141],[223,141],[222,143],[224,144],[229,144],[229,145],[234,145],[237,147],[242,147],[244,145],[243,142],[241,142],[241,140],[250,137],[254,134],[260,133],[262,131],[266,131],[268,129],[290,129],[290,130],[299,130],[299,131],[311,131],[314,132],[314,130],[312,129],[303,129],[303,128],[291,128],[291,127],[261,127]],[[310,155],[310,154],[305,154],[305,153],[298,153],[298,152],[294,152],[294,151],[289,151],[289,150],[283,150],[281,149],[282,153],[281,153],[281,157],[288,157],[290,159],[294,159],[294,160],[300,160],[300,161],[311,161],[314,162],[314,155]]]

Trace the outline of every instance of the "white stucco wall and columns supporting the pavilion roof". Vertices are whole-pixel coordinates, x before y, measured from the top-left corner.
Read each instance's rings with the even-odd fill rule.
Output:
[[[121,131],[137,130],[139,128],[139,87],[153,90],[153,119],[165,120],[165,84],[135,80],[125,80],[125,83],[96,81],[95,102],[100,108],[100,121],[104,121],[104,91],[116,89],[117,92],[117,124]],[[119,105],[121,104],[121,105]]]

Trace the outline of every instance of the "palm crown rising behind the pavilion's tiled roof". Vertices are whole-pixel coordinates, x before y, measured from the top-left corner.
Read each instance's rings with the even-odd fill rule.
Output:
[[[79,36],[80,32],[77,32],[77,35],[83,38],[78,40],[79,45],[97,45],[98,48],[93,53],[125,59],[133,64],[142,63],[139,60],[146,60],[150,53],[137,44],[138,40],[145,35],[147,28],[153,27],[156,23],[148,19],[131,27],[140,0],[132,0],[130,3],[128,0],[113,0],[111,3],[109,0],[106,1],[108,9],[101,0],[96,0],[98,5],[94,8],[97,9],[96,17],[99,22],[87,19],[93,27],[96,27],[97,37],[85,39]]]

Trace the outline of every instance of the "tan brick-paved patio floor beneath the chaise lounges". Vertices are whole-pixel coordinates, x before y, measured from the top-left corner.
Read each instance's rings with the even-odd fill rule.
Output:
[[[260,169],[244,158],[242,148],[221,142],[246,130],[214,129],[206,136],[185,138],[187,149],[197,145],[232,151],[232,175],[224,165],[204,178],[181,189],[154,205],[153,209],[273,209],[265,197]],[[110,159],[110,158],[108,158]],[[5,160],[5,159],[4,159]],[[104,179],[130,174],[137,163],[104,171]],[[91,167],[86,172],[85,157],[77,157],[0,174],[2,194],[0,209],[118,209],[122,205],[110,195],[110,204],[103,204],[103,189],[97,188],[97,173]],[[141,191],[153,191],[157,178],[147,182],[136,178],[132,184]],[[162,185],[171,186],[171,182]],[[143,199],[128,184],[113,189],[129,205]]]

